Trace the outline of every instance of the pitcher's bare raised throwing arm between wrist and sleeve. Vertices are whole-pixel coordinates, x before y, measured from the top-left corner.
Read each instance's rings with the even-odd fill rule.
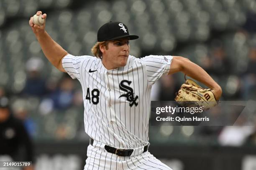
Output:
[[[36,38],[41,45],[46,58],[52,65],[59,69],[61,66],[61,59],[67,55],[68,52],[55,42],[46,31],[36,35]]]

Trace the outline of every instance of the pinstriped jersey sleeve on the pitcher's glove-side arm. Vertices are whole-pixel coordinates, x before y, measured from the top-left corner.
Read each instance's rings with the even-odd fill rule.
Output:
[[[162,75],[167,75],[172,62],[171,55],[149,55],[141,58],[146,66],[149,85],[153,85]]]

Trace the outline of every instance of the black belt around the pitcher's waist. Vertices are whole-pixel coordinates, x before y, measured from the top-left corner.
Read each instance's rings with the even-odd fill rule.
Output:
[[[90,145],[93,144],[93,139],[90,138]],[[148,145],[144,146],[144,150],[143,153],[146,152],[148,150]],[[111,146],[105,145],[105,150],[107,150],[109,153],[114,153],[115,155],[118,156],[131,156],[131,154],[133,153],[133,149],[117,149],[117,148],[113,148]]]

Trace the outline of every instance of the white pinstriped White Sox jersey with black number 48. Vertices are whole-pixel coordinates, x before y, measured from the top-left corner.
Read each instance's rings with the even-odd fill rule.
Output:
[[[147,145],[151,86],[168,74],[171,61],[129,55],[124,67],[107,70],[97,57],[66,55],[64,69],[82,85],[85,132],[115,148]]]

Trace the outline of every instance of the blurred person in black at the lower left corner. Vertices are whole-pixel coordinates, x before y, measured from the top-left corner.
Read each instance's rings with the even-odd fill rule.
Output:
[[[0,155],[10,155],[15,161],[33,161],[32,141],[23,123],[11,114],[7,97],[0,98]]]

